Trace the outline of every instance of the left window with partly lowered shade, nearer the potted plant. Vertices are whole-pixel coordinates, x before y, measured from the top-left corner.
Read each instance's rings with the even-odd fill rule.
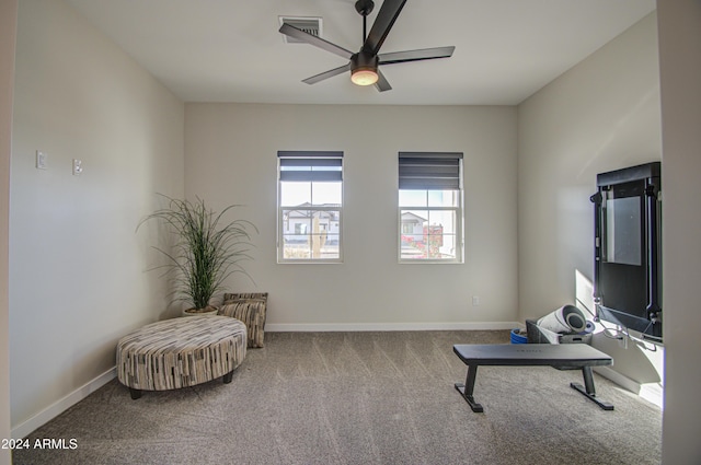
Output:
[[[277,158],[277,261],[342,261],[343,152]]]

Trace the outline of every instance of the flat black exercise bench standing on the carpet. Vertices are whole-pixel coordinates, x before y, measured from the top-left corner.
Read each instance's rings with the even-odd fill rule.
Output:
[[[570,383],[570,386],[605,410],[613,406],[596,396],[591,367],[611,365],[613,359],[586,344],[458,344],[452,351],[468,365],[464,382],[456,383],[456,390],[470,404],[472,411],[482,412],[484,408],[474,402],[474,381],[478,367],[552,367],[558,370],[579,370],[584,375],[584,386]]]

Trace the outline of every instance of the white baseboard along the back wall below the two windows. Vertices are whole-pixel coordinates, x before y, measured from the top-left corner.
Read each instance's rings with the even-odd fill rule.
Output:
[[[267,323],[269,333],[498,330],[519,327],[515,322],[462,323]]]

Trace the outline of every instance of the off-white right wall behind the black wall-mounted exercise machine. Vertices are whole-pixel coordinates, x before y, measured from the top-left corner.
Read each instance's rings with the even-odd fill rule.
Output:
[[[574,303],[576,271],[593,279],[589,196],[596,193],[597,173],[660,160],[658,69],[652,13],[519,106],[522,319]],[[623,348],[599,333],[593,344],[616,360],[613,370],[623,375],[616,381],[658,392],[660,351],[629,342]]]

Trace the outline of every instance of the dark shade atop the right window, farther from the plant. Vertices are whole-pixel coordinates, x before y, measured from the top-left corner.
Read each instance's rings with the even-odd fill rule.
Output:
[[[458,152],[399,152],[400,189],[460,189]]]

